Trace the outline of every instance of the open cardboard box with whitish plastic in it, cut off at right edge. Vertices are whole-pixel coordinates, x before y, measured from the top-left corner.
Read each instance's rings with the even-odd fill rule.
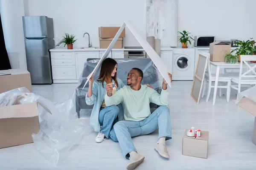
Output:
[[[237,105],[251,113],[254,117],[253,143],[256,144],[256,86],[237,94]]]

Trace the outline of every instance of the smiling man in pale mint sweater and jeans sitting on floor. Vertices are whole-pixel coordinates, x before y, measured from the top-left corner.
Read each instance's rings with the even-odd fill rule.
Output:
[[[168,73],[172,82],[172,74]],[[126,159],[130,159],[126,168],[128,170],[135,169],[140,165],[144,156],[137,153],[131,137],[152,133],[159,127],[159,141],[155,146],[155,150],[167,159],[169,154],[165,141],[171,139],[171,121],[169,108],[169,94],[167,91],[167,82],[163,79],[163,87],[161,94],[158,94],[152,88],[141,85],[143,72],[139,68],[132,68],[128,73],[127,86],[124,86],[112,95],[113,84],[107,84],[105,95],[105,105],[118,105],[122,103],[124,109],[124,121],[116,122],[113,126],[114,132],[110,135],[113,141],[118,141],[122,149],[122,153]],[[152,114],[150,112],[149,103],[161,105]]]

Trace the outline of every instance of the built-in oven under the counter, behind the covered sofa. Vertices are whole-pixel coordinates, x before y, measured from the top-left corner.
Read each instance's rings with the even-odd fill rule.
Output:
[[[125,58],[146,58],[146,52],[142,47],[125,47],[124,57]]]

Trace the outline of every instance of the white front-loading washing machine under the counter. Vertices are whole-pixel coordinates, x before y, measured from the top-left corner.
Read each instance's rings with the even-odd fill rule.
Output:
[[[195,48],[173,48],[172,80],[193,80]]]

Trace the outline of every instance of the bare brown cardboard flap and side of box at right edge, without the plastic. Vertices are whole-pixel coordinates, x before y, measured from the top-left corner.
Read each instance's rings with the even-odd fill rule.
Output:
[[[237,105],[251,113],[254,118],[254,129],[253,129],[253,143],[256,144],[256,102],[248,97],[242,98]]]

